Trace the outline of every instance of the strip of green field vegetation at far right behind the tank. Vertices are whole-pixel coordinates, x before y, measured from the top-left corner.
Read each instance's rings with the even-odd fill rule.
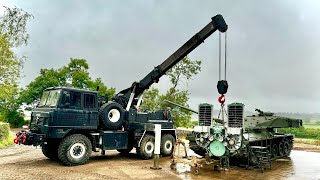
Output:
[[[314,128],[283,128],[279,129],[279,132],[294,134],[297,138],[309,138],[320,140],[320,129]]]

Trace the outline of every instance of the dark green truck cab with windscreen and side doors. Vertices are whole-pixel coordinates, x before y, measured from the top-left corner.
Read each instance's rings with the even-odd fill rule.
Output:
[[[30,130],[46,134],[46,138],[62,138],[71,130],[96,130],[97,127],[95,91],[70,87],[47,88],[31,114]]]

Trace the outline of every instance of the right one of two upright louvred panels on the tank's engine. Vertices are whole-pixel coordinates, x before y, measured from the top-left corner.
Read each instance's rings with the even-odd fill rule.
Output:
[[[244,104],[232,103],[228,105],[228,127],[243,126]]]

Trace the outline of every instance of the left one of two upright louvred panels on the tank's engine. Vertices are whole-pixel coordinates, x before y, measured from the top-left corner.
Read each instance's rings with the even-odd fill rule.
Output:
[[[211,126],[213,118],[213,105],[200,104],[199,105],[199,126]]]

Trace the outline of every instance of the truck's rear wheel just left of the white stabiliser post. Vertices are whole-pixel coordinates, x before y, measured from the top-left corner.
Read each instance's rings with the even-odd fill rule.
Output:
[[[137,148],[137,153],[141,159],[151,159],[154,153],[154,136],[146,134],[140,144],[140,147]]]

